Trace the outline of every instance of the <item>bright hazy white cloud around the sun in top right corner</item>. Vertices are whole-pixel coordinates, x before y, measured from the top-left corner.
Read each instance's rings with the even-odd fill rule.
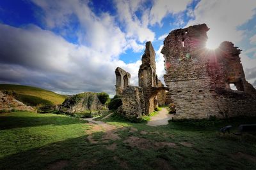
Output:
[[[255,15],[256,3],[254,0],[212,0],[200,1],[193,15],[195,20],[190,20],[188,25],[207,24],[207,32],[211,46],[218,46],[222,41],[241,41],[244,31],[237,30],[237,26],[246,23]],[[187,27],[186,26],[186,27]]]

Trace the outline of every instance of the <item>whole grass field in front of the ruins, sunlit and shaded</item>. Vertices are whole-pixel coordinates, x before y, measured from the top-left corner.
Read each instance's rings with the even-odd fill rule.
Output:
[[[0,169],[256,169],[255,136],[218,132],[255,119],[209,127],[104,121],[110,128],[100,130],[63,115],[1,113]]]

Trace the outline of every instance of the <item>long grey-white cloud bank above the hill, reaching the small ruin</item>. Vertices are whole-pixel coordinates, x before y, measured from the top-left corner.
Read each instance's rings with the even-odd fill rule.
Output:
[[[0,24],[0,34],[1,83],[22,83],[68,93],[114,94],[115,68],[120,66],[131,73],[131,83],[138,84],[140,61],[125,64],[108,53],[68,43],[33,25],[19,29]]]

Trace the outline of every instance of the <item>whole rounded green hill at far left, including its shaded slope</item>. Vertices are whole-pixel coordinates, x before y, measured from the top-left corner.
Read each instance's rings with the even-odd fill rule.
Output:
[[[67,98],[67,96],[56,94],[49,90],[26,85],[0,84],[0,90],[15,92],[14,97],[29,106],[61,104]]]

